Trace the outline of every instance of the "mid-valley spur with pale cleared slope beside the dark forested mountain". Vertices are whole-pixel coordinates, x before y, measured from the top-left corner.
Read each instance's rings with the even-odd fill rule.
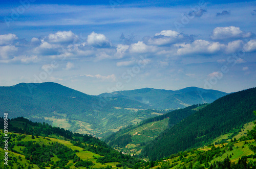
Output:
[[[104,140],[113,148],[124,153],[140,154],[148,142],[153,141],[168,127],[174,126],[206,105],[193,105],[145,119],[137,125],[120,129]]]

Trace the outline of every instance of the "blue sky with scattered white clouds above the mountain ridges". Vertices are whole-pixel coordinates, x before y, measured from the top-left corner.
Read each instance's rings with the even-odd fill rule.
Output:
[[[256,1],[1,1],[0,86],[256,87]]]

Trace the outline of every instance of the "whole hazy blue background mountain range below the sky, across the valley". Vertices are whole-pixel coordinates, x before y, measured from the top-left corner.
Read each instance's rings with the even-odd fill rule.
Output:
[[[188,87],[144,88],[88,95],[53,82],[0,87],[0,111],[74,132],[108,136],[119,129],[194,103],[211,103],[227,93]]]

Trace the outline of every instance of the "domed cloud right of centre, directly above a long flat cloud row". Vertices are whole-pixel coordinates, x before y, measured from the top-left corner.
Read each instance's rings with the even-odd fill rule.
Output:
[[[191,39],[191,38],[190,38]],[[188,36],[172,30],[163,30],[156,33],[152,38],[144,38],[144,42],[148,45],[168,45],[182,41],[189,41]]]

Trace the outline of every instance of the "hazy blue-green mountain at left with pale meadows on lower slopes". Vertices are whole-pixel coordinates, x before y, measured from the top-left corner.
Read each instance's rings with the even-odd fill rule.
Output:
[[[0,87],[0,113],[24,116],[74,132],[98,137],[165,111],[125,98],[101,98],[57,83],[20,83]]]

